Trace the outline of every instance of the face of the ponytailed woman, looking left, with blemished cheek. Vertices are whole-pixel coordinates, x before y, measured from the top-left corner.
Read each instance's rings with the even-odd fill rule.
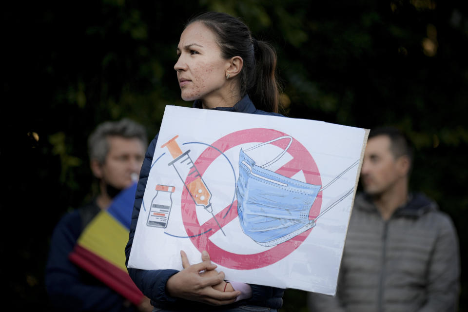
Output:
[[[215,34],[203,23],[193,22],[180,35],[177,55],[174,69],[182,99],[201,99],[210,108],[226,106],[224,99],[231,94],[225,76],[230,61],[221,57]]]

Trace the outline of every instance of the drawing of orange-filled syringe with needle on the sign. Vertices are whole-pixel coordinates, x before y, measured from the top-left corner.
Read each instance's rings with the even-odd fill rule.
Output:
[[[213,215],[213,218],[215,219],[219,229],[224,234],[224,236],[226,236],[223,229],[219,225],[218,220],[216,220],[216,217],[213,214],[213,207],[210,202],[212,194],[206,186],[205,181],[203,181],[203,178],[201,177],[200,173],[196,169],[192,158],[190,158],[190,150],[187,150],[186,152],[182,153],[182,150],[176,142],[177,137],[179,136],[173,137],[161,146],[161,148],[167,147],[167,149],[171,153],[171,156],[174,158],[173,161],[168,163],[168,166],[174,167],[177,175],[184,183],[185,188],[189,192],[190,196],[192,196],[192,199],[194,200],[195,204],[197,206],[203,206],[203,208],[208,213]],[[192,178],[194,178],[194,180],[192,180],[188,184],[185,184],[184,177],[186,176],[191,176]]]

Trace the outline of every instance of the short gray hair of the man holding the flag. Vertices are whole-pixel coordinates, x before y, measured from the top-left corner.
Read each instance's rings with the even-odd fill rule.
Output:
[[[135,137],[142,141],[143,145],[148,143],[145,128],[135,121],[128,118],[120,121],[106,121],[98,125],[88,138],[89,159],[97,159],[101,164],[105,162],[109,153],[107,137]]]

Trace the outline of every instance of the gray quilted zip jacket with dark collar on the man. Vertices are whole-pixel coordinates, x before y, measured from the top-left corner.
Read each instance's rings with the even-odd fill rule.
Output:
[[[388,221],[356,196],[335,297],[309,294],[312,312],[451,312],[459,296],[458,238],[448,215],[410,196]]]

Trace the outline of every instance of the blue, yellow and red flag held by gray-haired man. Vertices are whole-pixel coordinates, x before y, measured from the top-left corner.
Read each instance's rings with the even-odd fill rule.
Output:
[[[120,192],[107,210],[101,210],[86,226],[70,260],[120,293],[135,305],[143,293],[128,275],[125,246],[128,241],[137,184]]]

